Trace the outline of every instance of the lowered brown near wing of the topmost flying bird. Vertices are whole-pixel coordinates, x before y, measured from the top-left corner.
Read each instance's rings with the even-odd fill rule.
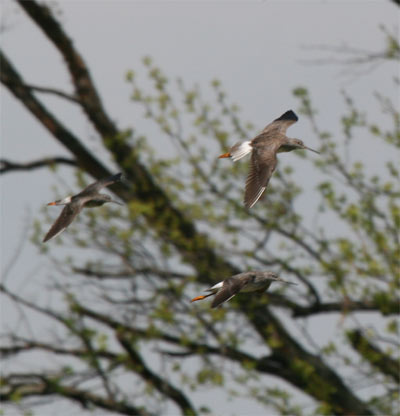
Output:
[[[246,208],[251,208],[260,199],[276,168],[276,164],[276,149],[273,146],[253,150],[244,193]]]

